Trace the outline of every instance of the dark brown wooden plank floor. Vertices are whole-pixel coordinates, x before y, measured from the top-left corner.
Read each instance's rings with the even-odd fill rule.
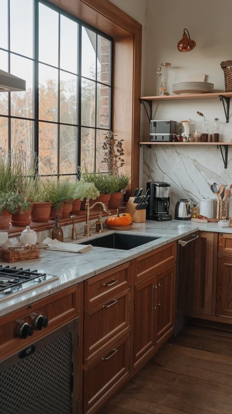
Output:
[[[232,414],[232,333],[189,325],[101,414]]]

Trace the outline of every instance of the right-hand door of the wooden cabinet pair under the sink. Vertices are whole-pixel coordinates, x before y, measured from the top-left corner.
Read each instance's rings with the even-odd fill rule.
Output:
[[[156,276],[157,301],[157,341],[174,327],[176,266],[160,272]]]

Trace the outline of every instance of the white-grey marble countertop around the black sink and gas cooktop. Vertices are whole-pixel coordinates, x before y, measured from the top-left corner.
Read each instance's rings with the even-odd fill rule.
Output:
[[[59,290],[80,283],[105,270],[112,269],[115,266],[198,230],[232,233],[232,228],[220,228],[217,223],[201,224],[178,220],[169,222],[146,221],[145,223],[133,223],[133,230],[129,230],[128,232],[124,231],[123,233],[134,234],[135,236],[137,234],[150,235],[159,238],[130,250],[93,247],[91,251],[83,254],[42,250],[38,259],[12,262],[10,266],[30,268],[38,272],[56,275],[59,278],[51,283],[36,287],[33,290],[17,294],[9,299],[1,300],[0,316],[52,295]],[[109,233],[114,233],[114,231],[105,230],[103,234],[93,233],[90,237],[78,235],[77,243],[89,240],[91,244],[91,239],[102,237]],[[9,263],[0,261],[0,264],[6,265]]]

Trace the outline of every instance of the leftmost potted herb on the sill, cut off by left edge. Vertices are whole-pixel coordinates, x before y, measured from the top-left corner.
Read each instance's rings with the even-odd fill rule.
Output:
[[[12,192],[0,193],[0,229],[8,229],[12,214],[16,213],[21,203],[19,194]]]

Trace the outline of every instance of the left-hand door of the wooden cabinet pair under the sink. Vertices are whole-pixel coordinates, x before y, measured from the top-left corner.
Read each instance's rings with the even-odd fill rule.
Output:
[[[133,363],[145,357],[156,344],[155,276],[135,286]]]

